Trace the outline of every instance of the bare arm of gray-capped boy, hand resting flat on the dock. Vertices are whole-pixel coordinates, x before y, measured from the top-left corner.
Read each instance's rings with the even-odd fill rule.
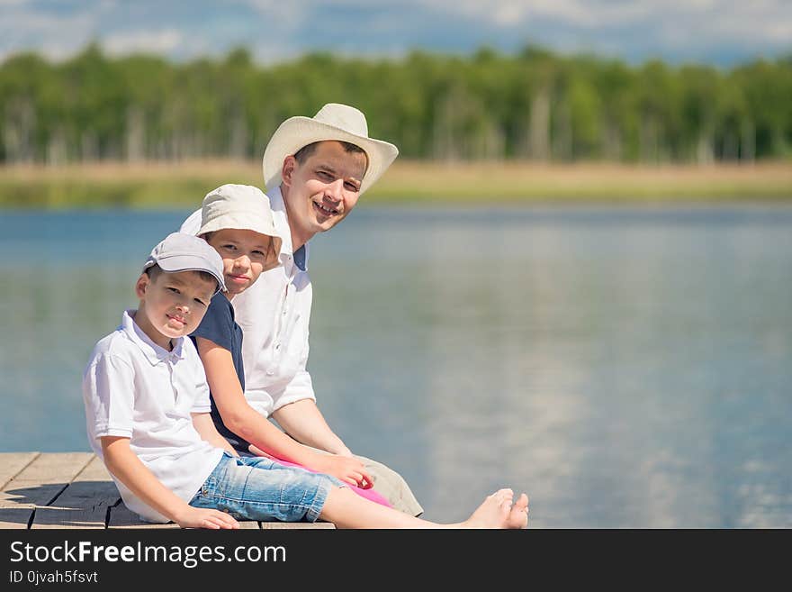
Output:
[[[238,528],[234,518],[219,512],[195,508],[165,487],[130,449],[130,439],[104,436],[104,464],[130,491],[159,514],[183,528]]]

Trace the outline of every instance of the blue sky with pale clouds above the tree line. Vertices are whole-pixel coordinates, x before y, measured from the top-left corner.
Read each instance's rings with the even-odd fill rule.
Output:
[[[178,60],[246,46],[261,63],[306,50],[398,57],[532,42],[728,67],[792,53],[792,0],[0,0],[0,59],[22,50],[66,59],[89,41]]]

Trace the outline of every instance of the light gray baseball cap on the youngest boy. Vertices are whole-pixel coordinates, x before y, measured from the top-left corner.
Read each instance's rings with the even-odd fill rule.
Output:
[[[186,232],[172,232],[148,255],[143,270],[158,265],[163,271],[205,271],[217,280],[217,290],[225,291],[220,254],[207,241]]]

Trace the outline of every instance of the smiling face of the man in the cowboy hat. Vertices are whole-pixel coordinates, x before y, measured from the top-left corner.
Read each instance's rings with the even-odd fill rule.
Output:
[[[286,157],[284,198],[295,243],[304,244],[347,217],[360,195],[365,168],[365,154],[347,152],[338,141],[320,142],[302,164]]]

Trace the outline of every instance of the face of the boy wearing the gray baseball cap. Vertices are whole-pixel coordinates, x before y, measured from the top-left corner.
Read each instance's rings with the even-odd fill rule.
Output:
[[[159,271],[155,277],[141,274],[135,285],[140,299],[135,322],[151,341],[170,349],[170,340],[193,332],[217,289],[213,279],[197,271]]]

